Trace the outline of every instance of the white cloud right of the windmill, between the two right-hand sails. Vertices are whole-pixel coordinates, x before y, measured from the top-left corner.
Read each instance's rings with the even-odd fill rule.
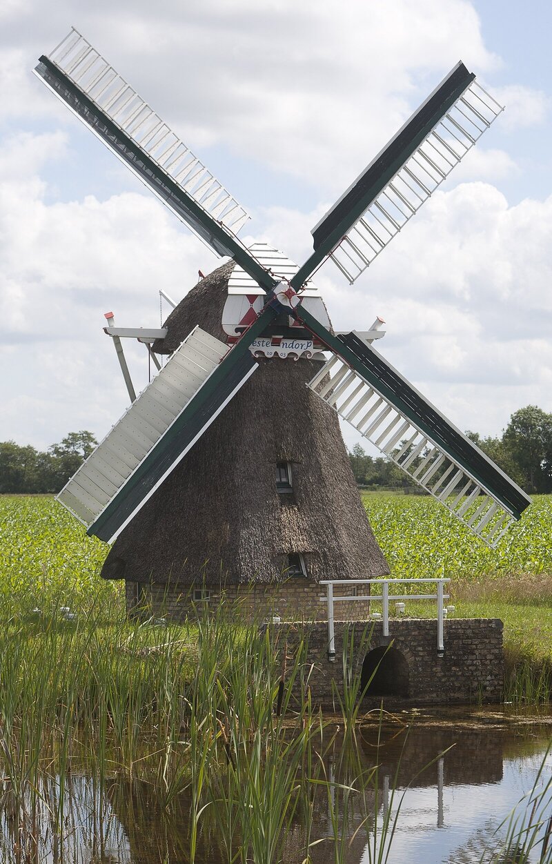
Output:
[[[275,245],[316,219],[266,214]],[[353,286],[331,263],[315,282],[335,327],[381,315],[384,357],[461,429],[498,434],[523,404],[552,411],[551,232],[552,197],[508,206],[490,184],[465,183],[436,193]]]

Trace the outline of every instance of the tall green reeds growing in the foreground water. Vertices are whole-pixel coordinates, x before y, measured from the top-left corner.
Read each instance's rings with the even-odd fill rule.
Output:
[[[129,623],[104,602],[74,622],[12,616],[0,628],[3,861],[75,864],[83,837],[98,855],[110,832],[124,842],[108,802],[126,784],[131,797],[149,789],[169,820],[185,816],[190,861],[211,849],[236,864],[300,864],[323,843],[340,864],[363,832],[366,860],[384,864],[401,800],[393,806],[396,775],[382,812],[378,766],[365,766],[355,739],[359,646],[351,633],[340,658],[337,748],[311,701],[304,632],[289,655],[285,632],[275,644],[270,628],[237,626],[224,603],[183,626]],[[167,848],[160,855],[170,860]]]

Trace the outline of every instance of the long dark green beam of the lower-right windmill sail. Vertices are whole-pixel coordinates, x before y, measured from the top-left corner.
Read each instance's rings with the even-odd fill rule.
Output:
[[[400,396],[397,396],[397,393],[390,390],[390,388],[384,384],[384,382],[380,381],[377,376],[375,376],[370,369],[368,369],[364,363],[356,354],[354,354],[350,348],[348,348],[345,343],[341,340],[337,339],[335,336],[330,334],[326,327],[323,327],[319,321],[316,321],[314,316],[301,306],[297,310],[301,321],[304,321],[305,324],[311,329],[322,342],[324,342],[332,351],[336,353],[339,357],[343,358],[347,365],[351,366],[355,372],[358,372],[366,381],[369,382],[376,390],[378,390],[382,396],[389,400],[389,402],[397,408],[405,417],[407,417],[410,421],[412,421],[418,429],[420,429],[424,435],[427,435],[431,441],[438,442],[438,446],[449,456],[451,456],[454,461],[458,462],[460,467],[464,468],[467,473],[469,473],[480,486],[483,486],[484,489],[488,489],[489,492],[492,492],[492,495],[505,507],[508,512],[511,512],[512,516],[519,520],[521,518],[521,514],[523,510],[518,510],[515,507],[512,507],[511,502],[507,502],[504,499],[504,495],[501,492],[498,492],[492,484],[489,483],[488,480],[484,480],[481,475],[473,470],[466,460],[460,455],[457,454],[450,446],[444,441],[440,435],[435,435],[435,429],[431,429],[423,420],[413,411],[410,406],[403,401]],[[461,435],[461,433],[460,433]],[[466,436],[464,436],[466,437]],[[470,442],[469,438],[466,438],[466,442],[469,443],[471,447],[475,447],[473,442]],[[487,457],[488,458],[488,457]],[[494,466],[494,462],[489,460]],[[400,467],[400,466],[399,466]],[[524,494],[524,493],[523,493]],[[530,505],[530,499],[527,499],[527,506]]]

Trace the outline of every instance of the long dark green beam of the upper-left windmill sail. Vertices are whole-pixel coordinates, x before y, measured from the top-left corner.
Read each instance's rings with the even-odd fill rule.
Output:
[[[40,62],[48,68],[48,71],[54,76],[54,78],[58,79],[60,83],[73,94],[74,98],[77,98],[83,105],[85,105],[87,110],[94,114],[98,120],[105,125],[107,130],[111,131],[111,135],[117,137],[129,150],[135,152],[137,150],[140,153],[140,158],[144,166],[149,168],[152,175],[162,181],[162,183],[168,187],[176,198],[180,198],[185,203],[185,206],[194,214],[194,217],[201,223],[201,225],[206,228],[206,231],[210,232],[214,238],[219,240],[221,245],[225,246],[228,255],[232,257],[233,260],[251,276],[252,279],[267,291],[274,288],[277,284],[276,280],[273,279],[266,270],[264,270],[261,264],[259,264],[257,260],[232,237],[232,234],[226,232],[225,228],[221,226],[219,222],[212,219],[202,206],[200,206],[191,196],[178,186],[178,184],[175,183],[168,174],[166,174],[162,168],[160,168],[156,162],[148,156],[136,141],[133,141],[133,139],[127,136],[123,130],[119,129],[119,127],[111,121],[105,112],[102,111],[98,105],[92,102],[92,99],[88,98],[86,93],[80,90],[79,86],[74,84],[73,81],[68,78],[59,67],[55,66],[51,60],[48,60],[48,57],[41,56]],[[60,96],[62,95],[63,94],[60,93]],[[65,101],[67,102],[67,99]],[[86,117],[83,114],[80,114],[79,111],[77,111],[77,113],[79,113],[79,116],[87,122]]]

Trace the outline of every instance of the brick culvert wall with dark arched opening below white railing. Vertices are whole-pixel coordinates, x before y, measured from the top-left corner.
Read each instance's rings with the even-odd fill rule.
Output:
[[[391,619],[390,635],[381,621],[335,622],[335,659],[328,659],[327,623],[270,625],[288,656],[301,636],[308,638],[306,664],[313,664],[309,686],[313,701],[325,708],[333,690],[343,693],[343,642],[353,640],[352,672],[371,685],[363,708],[466,702],[500,702],[504,683],[503,624],[499,619],[447,619],[444,653],[437,652],[435,619]],[[290,629],[291,628],[291,629]],[[378,665],[379,663],[379,665]],[[378,667],[378,668],[376,668]]]

